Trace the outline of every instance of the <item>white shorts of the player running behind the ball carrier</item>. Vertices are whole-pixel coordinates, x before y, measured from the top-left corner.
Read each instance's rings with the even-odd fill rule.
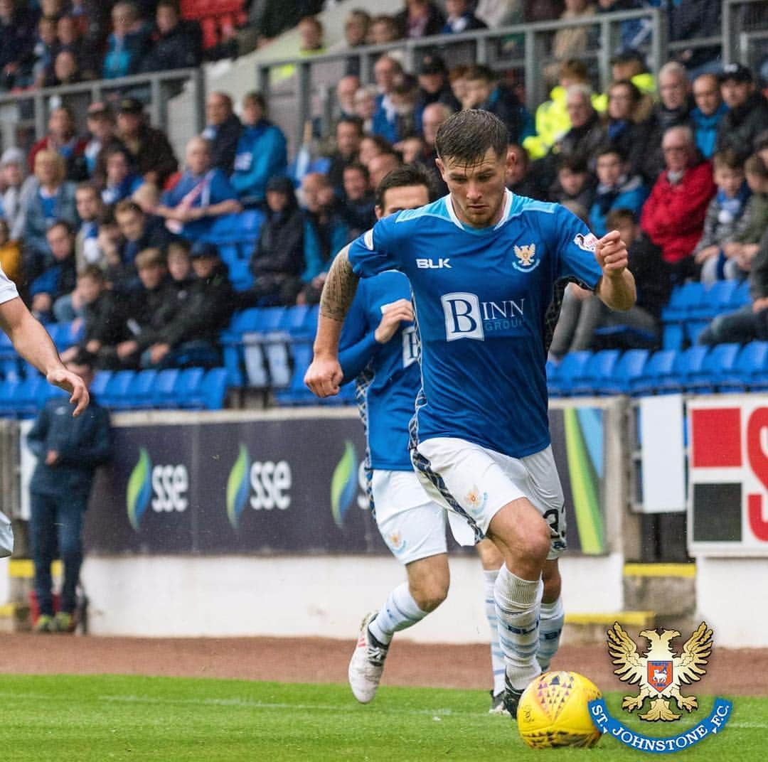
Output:
[[[445,509],[430,500],[413,471],[373,470],[371,493],[379,532],[399,562],[408,564],[446,552]],[[474,545],[467,523],[449,519],[456,542]]]

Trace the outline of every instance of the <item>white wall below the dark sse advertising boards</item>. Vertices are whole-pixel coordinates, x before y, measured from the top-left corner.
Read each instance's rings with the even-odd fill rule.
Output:
[[[621,609],[619,554],[561,561],[571,612]],[[407,637],[485,642],[482,569],[451,559],[448,600]],[[353,638],[362,615],[405,579],[390,558],[91,556],[83,568],[95,635],[290,635]]]

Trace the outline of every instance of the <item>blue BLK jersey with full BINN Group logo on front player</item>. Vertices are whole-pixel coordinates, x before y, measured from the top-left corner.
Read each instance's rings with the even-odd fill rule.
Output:
[[[445,196],[353,241],[357,275],[397,269],[411,284],[421,337],[418,441],[459,437],[511,457],[548,446],[548,307],[561,279],[598,284],[596,242],[563,206],[509,191],[492,227],[462,225]]]

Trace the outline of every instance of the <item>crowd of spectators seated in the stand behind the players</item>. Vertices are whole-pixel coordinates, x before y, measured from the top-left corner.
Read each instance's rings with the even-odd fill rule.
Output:
[[[408,0],[392,17],[352,10],[345,35],[354,48],[637,5],[447,0],[443,12]],[[154,35],[141,23],[147,7],[155,14]],[[270,2],[260,7],[276,14]],[[38,31],[55,18],[48,64],[64,48],[77,58],[90,47],[84,35],[97,32],[83,25],[85,8],[87,2],[65,8],[42,0]],[[274,28],[296,11],[282,10],[279,23],[279,14],[272,17]],[[7,18],[29,14],[0,0],[2,39],[12,34]],[[106,24],[109,13],[102,15]],[[291,18],[303,29],[306,51],[321,49],[319,22]],[[194,25],[180,20],[173,0],[121,0],[111,19],[101,70],[88,64],[98,76],[200,61]],[[16,47],[8,50],[23,48],[24,28],[15,27]],[[622,28],[623,37],[630,32],[643,30]],[[510,190],[564,203],[598,236],[617,229],[630,249],[637,306],[610,313],[569,285],[553,359],[593,347],[605,325],[627,328],[624,341],[654,345],[661,309],[686,279],[749,278],[752,285],[750,309],[718,318],[700,341],[768,338],[768,102],[755,73],[741,64],[708,68],[712,61],[697,54],[670,61],[654,77],[642,54],[623,51],[601,94],[578,58],[594,41],[558,35],[552,50],[564,60],[534,114],[513,81],[479,64],[449,67],[439,49],[422,54],[413,72],[396,52],[379,55],[373,84],[362,83],[358,59],[350,57],[336,86],[333,134],[317,140],[311,125],[305,131],[300,153],[326,157],[306,171],[298,160],[289,164],[286,137],[257,92],[239,104],[223,92],[208,94],[205,129],[189,140],[181,165],[133,97],[116,106],[91,104],[86,134],[78,133],[68,108],[55,108],[48,133],[28,153],[8,148],[0,157],[0,264],[38,318],[84,326],[72,351],[88,353],[97,368],[215,365],[218,333],[234,310],[319,301],[333,256],[375,222],[374,190],[386,173],[422,163],[435,194],[445,193],[435,136],[455,111],[478,108],[508,127]],[[8,50],[0,46],[0,54]],[[22,71],[7,64],[7,82]],[[45,66],[34,71],[43,74]],[[217,218],[243,209],[259,209],[264,221],[250,254],[252,282],[235,291],[206,239]]]

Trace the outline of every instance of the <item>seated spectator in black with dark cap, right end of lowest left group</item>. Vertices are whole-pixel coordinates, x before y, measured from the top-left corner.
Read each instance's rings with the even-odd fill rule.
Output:
[[[142,353],[144,368],[214,366],[219,362],[219,333],[230,321],[234,301],[227,266],[213,243],[195,242],[190,257],[195,277],[187,299]]]

